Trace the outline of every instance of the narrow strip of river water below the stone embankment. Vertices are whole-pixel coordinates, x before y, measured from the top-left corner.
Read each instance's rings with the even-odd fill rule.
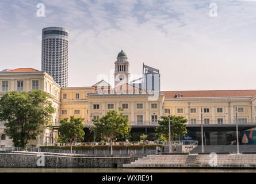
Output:
[[[0,168],[0,173],[256,173],[255,169],[214,168]]]

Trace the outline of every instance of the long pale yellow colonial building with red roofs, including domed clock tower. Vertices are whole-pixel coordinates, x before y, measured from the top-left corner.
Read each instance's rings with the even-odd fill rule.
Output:
[[[256,127],[256,90],[150,91],[129,84],[129,62],[121,51],[114,63],[115,86],[100,81],[87,87],[60,87],[52,76],[32,68],[0,72],[0,94],[6,91],[43,90],[51,94],[55,113],[53,129],[44,128],[40,144],[52,144],[58,136],[59,121],[70,116],[84,118],[85,130],[108,110],[123,108],[132,133],[154,133],[161,116],[183,116],[188,120],[188,136],[201,141],[201,124],[207,144],[227,144],[235,140],[235,120],[239,131]],[[158,85],[158,84],[156,84]],[[142,85],[143,86],[143,85]],[[12,140],[0,126],[1,147],[12,146]],[[89,139],[86,140],[89,141]],[[93,140],[90,140],[93,141]],[[200,144],[200,143],[199,143]],[[30,141],[37,146],[37,140]]]

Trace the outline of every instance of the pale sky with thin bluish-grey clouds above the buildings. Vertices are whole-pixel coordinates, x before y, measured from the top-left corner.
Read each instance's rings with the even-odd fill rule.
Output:
[[[235,0],[1,0],[0,70],[41,70],[41,30],[61,26],[70,87],[113,85],[123,49],[135,78],[143,62],[160,70],[161,90],[256,89],[255,10]]]

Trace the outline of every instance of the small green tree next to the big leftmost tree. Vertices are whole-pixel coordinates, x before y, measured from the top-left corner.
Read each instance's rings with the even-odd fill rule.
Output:
[[[84,118],[75,118],[74,116],[70,116],[70,121],[68,121],[68,118],[60,120],[59,140],[62,142],[70,142],[71,153],[74,141],[83,141],[84,139],[85,131],[83,131],[83,120]]]

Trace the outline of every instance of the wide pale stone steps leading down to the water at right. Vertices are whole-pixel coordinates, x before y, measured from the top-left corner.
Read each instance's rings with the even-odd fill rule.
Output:
[[[148,155],[123,167],[173,168],[173,167],[254,167],[256,154],[194,154],[194,155]]]

